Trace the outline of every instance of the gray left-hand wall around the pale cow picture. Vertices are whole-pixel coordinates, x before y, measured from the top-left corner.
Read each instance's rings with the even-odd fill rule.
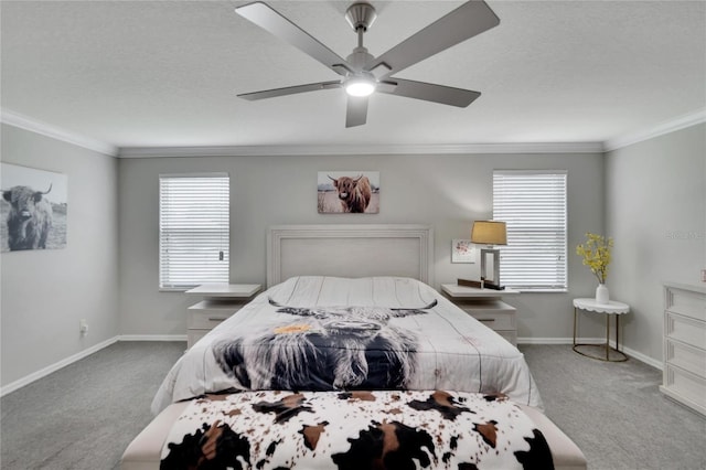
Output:
[[[117,159],[2,125],[2,161],[68,180],[67,246],[2,253],[2,385],[118,334]],[[88,334],[78,331],[88,321]]]

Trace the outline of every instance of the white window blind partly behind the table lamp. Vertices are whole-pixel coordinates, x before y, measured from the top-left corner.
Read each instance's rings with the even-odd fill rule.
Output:
[[[500,278],[518,290],[566,290],[566,171],[494,171],[493,220],[507,224]]]

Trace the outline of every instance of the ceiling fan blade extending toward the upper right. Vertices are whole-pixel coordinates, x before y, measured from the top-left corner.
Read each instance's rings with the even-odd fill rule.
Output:
[[[500,24],[483,0],[470,0],[407,38],[365,67],[373,74],[393,75],[446,49]]]

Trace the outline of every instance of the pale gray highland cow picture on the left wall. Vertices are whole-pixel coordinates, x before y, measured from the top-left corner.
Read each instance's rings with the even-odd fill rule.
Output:
[[[0,163],[2,252],[66,247],[66,175]]]

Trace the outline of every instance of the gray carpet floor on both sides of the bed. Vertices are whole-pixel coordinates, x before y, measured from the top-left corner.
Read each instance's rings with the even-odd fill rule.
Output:
[[[185,344],[119,342],[0,400],[0,468],[117,469]],[[659,392],[662,373],[568,345],[521,345],[545,412],[590,470],[706,469],[706,418]]]

